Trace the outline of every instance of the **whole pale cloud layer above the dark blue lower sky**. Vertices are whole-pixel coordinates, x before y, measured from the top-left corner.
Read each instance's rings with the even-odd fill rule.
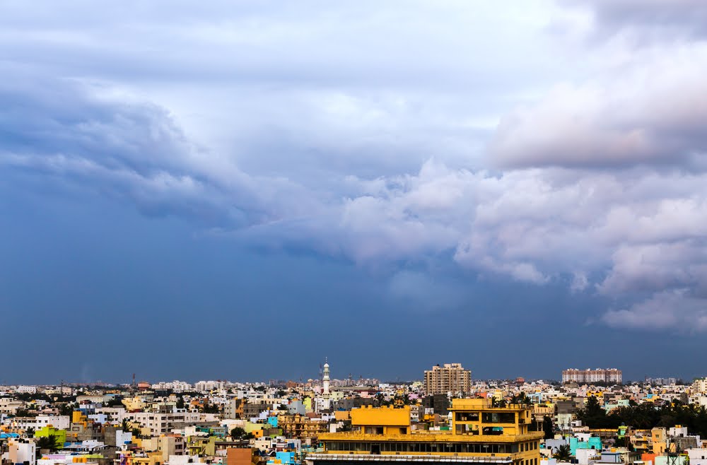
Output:
[[[93,22],[81,2],[47,17],[5,4],[0,171],[251,247],[392,264],[393,295],[427,281],[406,266],[451,257],[609,298],[609,326],[707,330],[707,45],[552,48],[568,3],[141,6]],[[694,19],[641,3],[581,14],[590,34]]]

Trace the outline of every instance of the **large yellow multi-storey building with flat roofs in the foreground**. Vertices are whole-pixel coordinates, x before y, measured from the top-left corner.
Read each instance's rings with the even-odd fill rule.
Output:
[[[529,430],[529,407],[493,407],[491,399],[454,399],[450,411],[449,431],[413,431],[409,407],[355,408],[351,432],[320,435],[324,452],[308,454],[307,461],[314,465],[354,461],[538,465],[543,433]]]

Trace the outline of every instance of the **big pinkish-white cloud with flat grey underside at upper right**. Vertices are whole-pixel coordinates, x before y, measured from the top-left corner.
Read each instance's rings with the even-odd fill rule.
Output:
[[[707,44],[636,52],[629,66],[556,86],[503,117],[491,146],[503,167],[707,167]]]

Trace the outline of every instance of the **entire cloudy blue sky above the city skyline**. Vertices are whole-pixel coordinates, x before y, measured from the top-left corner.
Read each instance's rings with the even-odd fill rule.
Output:
[[[706,374],[702,0],[0,3],[0,384]]]

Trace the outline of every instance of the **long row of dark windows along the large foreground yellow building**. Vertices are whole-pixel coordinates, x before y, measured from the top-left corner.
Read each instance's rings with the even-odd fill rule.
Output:
[[[522,443],[525,447],[529,443]],[[342,452],[437,452],[457,454],[516,454],[518,444],[469,444],[446,442],[344,442],[326,443],[327,451]],[[525,449],[529,450],[529,449]]]

